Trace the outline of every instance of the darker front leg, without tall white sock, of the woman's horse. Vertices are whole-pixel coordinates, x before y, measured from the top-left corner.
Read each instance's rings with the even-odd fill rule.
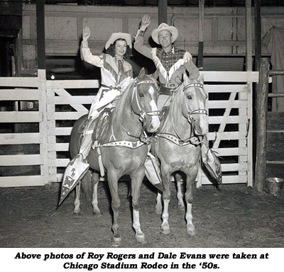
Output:
[[[111,208],[114,212],[114,221],[112,223],[112,231],[114,232],[113,240],[115,243],[121,242],[121,236],[119,234],[119,208],[120,208],[120,199],[119,199],[119,175],[114,169],[108,169],[107,171],[107,181],[109,183],[109,191],[111,192]]]

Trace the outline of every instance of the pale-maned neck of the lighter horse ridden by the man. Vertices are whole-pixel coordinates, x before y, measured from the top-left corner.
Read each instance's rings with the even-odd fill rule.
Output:
[[[187,122],[187,118],[182,114],[182,99],[184,94],[182,86],[175,94],[173,101],[170,103],[170,110],[161,132],[178,135],[180,137],[188,137],[191,133],[191,125]]]

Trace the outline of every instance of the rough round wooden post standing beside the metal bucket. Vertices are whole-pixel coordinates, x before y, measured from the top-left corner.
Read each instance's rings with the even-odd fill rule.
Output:
[[[266,130],[268,102],[269,60],[261,60],[259,82],[256,84],[256,175],[254,186],[263,190],[266,178]]]

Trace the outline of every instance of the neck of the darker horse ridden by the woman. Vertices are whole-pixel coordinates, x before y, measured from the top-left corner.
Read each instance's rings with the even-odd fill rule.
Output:
[[[141,132],[141,121],[138,115],[133,113],[131,109],[133,88],[133,84],[131,84],[131,86],[124,91],[111,116],[111,125],[116,140],[133,140],[134,137],[127,135],[126,131],[136,137],[139,137]]]

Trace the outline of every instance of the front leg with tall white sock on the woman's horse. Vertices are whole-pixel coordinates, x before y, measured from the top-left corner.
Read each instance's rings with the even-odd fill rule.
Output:
[[[130,175],[132,209],[133,209],[133,229],[135,230],[136,242],[139,243],[145,242],[145,235],[141,230],[140,215],[139,215],[139,197],[140,197],[140,189],[144,175],[145,171],[143,168],[140,169],[140,171]]]

